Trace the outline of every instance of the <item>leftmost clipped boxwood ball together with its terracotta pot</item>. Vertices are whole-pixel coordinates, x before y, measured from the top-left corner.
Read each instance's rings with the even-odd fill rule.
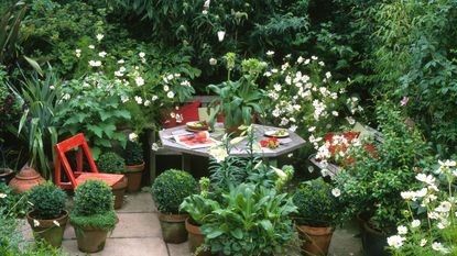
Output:
[[[66,193],[52,182],[39,185],[30,190],[32,210],[26,219],[36,241],[44,240],[52,246],[62,245],[68,212],[65,210]]]

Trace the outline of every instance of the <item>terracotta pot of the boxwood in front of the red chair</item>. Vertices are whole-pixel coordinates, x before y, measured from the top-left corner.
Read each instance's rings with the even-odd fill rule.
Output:
[[[81,227],[73,225],[75,229],[78,249],[83,253],[97,253],[105,248],[108,232],[94,227]]]

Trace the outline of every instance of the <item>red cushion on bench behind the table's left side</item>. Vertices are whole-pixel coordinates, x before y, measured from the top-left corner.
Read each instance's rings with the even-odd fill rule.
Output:
[[[168,112],[165,116],[165,120],[162,122],[162,126],[164,129],[168,129],[184,125],[187,122],[199,121],[198,107],[200,107],[200,101],[197,100],[192,102],[191,104],[179,107],[178,110],[173,110]],[[172,113],[175,114],[175,118],[172,118]]]

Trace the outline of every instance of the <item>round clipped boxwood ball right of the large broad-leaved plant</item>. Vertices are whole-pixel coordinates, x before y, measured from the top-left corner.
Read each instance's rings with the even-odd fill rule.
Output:
[[[341,205],[331,193],[331,185],[318,178],[302,182],[293,196],[296,221],[311,226],[336,226],[341,223]]]

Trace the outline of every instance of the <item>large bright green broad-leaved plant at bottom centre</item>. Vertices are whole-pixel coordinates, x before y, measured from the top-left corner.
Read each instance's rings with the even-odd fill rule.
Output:
[[[272,255],[284,253],[294,236],[290,214],[296,207],[287,194],[274,189],[241,183],[209,201],[209,213],[202,225],[211,252],[225,255]],[[208,199],[209,200],[209,199]]]

